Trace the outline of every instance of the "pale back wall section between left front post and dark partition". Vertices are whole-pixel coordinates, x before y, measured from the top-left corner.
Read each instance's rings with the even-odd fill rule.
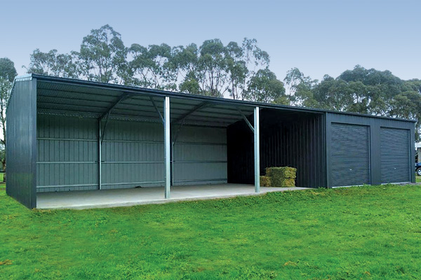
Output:
[[[174,185],[200,183],[227,183],[225,128],[183,126],[180,130],[174,145]]]

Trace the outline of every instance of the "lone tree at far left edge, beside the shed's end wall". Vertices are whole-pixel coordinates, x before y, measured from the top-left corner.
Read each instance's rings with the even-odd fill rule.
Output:
[[[6,57],[0,58],[0,126],[3,132],[0,142],[6,146],[6,108],[11,94],[11,88],[15,76],[17,76],[15,64]],[[3,170],[6,169],[6,157],[1,157]]]

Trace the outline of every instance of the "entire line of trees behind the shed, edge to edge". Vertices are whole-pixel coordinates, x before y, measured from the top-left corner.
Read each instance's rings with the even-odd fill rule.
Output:
[[[7,63],[6,63],[7,62]],[[0,60],[0,120],[15,76],[13,62]],[[421,80],[401,80],[390,71],[355,66],[337,78],[322,80],[293,68],[279,80],[269,69],[270,57],[255,39],[224,45],[219,39],[201,45],[126,46],[109,25],[93,29],[77,51],[59,53],[36,49],[25,66],[28,73],[95,80],[174,90],[255,102],[366,113],[418,120],[421,118]],[[13,71],[14,70],[14,71]],[[7,72],[7,73],[6,73]],[[417,139],[418,133],[416,135]],[[5,144],[5,140],[1,139]]]

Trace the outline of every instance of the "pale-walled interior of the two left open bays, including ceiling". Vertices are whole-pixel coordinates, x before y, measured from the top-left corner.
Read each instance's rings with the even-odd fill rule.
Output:
[[[253,107],[170,100],[172,185],[227,183],[227,126]],[[36,106],[38,193],[163,186],[162,95],[39,80]]]

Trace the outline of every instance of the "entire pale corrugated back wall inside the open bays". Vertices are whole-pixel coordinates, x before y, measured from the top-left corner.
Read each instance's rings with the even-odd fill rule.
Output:
[[[40,114],[37,139],[38,192],[98,189],[98,120]],[[160,123],[109,121],[102,189],[163,186],[163,171]],[[183,126],[174,146],[174,185],[226,182],[226,130]]]

